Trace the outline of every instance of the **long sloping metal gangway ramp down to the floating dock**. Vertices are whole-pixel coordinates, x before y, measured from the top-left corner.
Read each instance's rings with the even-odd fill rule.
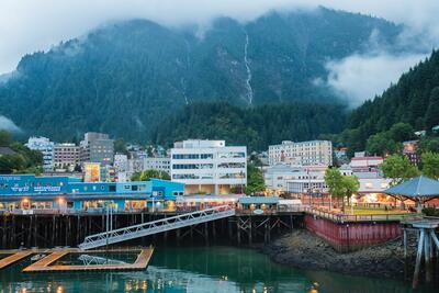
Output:
[[[125,228],[113,229],[100,234],[87,236],[80,249],[91,249],[110,244],[122,243],[125,240],[139,238],[161,232],[178,229],[205,222],[225,218],[235,215],[235,209],[228,205],[215,206],[202,211],[181,214],[178,216],[166,217],[154,222],[138,224]]]

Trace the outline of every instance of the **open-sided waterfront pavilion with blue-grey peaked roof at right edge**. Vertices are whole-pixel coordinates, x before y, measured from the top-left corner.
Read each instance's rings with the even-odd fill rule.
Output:
[[[439,181],[418,176],[383,192],[401,201],[412,200],[416,202],[418,212],[420,212],[419,210],[426,202],[439,198]]]

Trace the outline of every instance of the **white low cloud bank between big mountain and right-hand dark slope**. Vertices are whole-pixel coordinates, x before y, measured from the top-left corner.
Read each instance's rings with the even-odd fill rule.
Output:
[[[373,55],[351,55],[338,61],[329,61],[327,84],[345,97],[351,106],[373,99],[395,83],[401,74],[407,71],[428,55],[391,55],[375,53]]]

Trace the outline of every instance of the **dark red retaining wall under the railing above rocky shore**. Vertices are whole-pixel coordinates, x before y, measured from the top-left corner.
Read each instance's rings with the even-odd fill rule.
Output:
[[[402,236],[399,222],[345,222],[305,215],[308,230],[324,238],[338,251],[352,251]]]

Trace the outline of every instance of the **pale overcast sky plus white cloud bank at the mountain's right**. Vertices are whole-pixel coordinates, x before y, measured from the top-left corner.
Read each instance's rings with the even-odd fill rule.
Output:
[[[426,41],[431,46],[439,40],[439,0],[0,0],[0,74],[12,71],[26,53],[47,50],[106,21],[146,18],[165,25],[179,25],[207,23],[214,16],[227,15],[245,22],[272,9],[316,5],[404,23],[410,30],[427,33]],[[424,56],[374,52],[370,56],[331,60],[326,65],[330,71],[328,83],[359,103],[380,93]],[[380,78],[374,75],[371,80],[369,72],[380,72],[383,67],[389,74]],[[369,86],[352,87],[356,84],[352,82],[364,78],[369,78]]]

